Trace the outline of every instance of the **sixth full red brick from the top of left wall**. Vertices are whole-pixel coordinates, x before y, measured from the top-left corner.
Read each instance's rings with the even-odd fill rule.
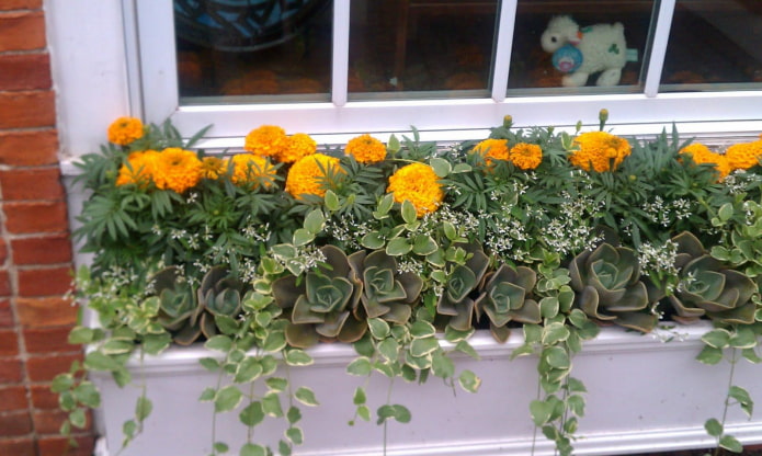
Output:
[[[3,204],[5,228],[15,235],[68,230],[66,202],[11,202]]]

